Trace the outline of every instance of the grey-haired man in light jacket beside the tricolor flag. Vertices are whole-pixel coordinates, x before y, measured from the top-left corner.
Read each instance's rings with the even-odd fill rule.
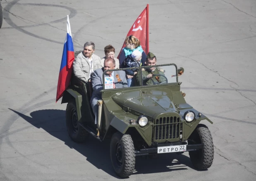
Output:
[[[73,62],[75,76],[87,82],[92,78],[94,70],[101,68],[101,58],[95,54],[95,45],[92,41],[87,41],[84,50],[79,53]]]

